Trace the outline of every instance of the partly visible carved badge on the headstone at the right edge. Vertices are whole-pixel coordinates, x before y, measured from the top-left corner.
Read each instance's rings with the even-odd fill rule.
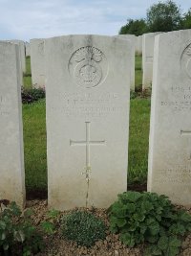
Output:
[[[189,44],[183,51],[180,58],[181,68],[186,75],[191,79],[191,44]]]

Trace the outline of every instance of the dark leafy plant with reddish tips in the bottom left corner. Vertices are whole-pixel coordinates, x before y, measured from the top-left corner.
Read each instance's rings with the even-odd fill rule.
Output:
[[[21,213],[15,202],[0,207],[0,255],[28,256],[43,248],[41,234],[31,222],[32,211]]]

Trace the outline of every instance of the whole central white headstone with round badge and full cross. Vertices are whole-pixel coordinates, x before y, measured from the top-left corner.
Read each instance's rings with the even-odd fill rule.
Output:
[[[130,46],[99,35],[45,40],[49,205],[108,207],[127,187]]]

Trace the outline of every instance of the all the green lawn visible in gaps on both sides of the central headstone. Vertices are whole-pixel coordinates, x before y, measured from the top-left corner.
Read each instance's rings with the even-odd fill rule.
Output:
[[[136,57],[136,89],[141,86],[141,57]],[[27,58],[26,87],[32,87],[30,58]],[[131,100],[128,184],[147,179],[150,99]],[[45,100],[23,105],[25,170],[27,191],[47,190]]]

